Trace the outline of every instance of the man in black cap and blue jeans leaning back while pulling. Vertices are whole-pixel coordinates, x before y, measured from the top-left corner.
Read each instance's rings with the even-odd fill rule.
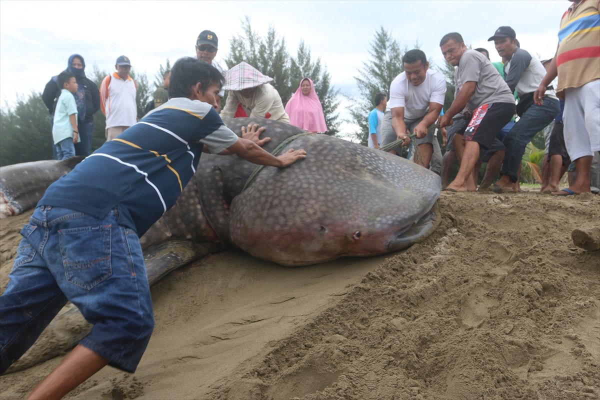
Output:
[[[559,113],[559,100],[552,86],[548,86],[541,106],[533,103],[533,93],[544,79],[546,70],[537,58],[518,46],[516,36],[510,26],[500,26],[488,39],[494,41],[498,55],[506,59],[504,79],[511,92],[516,89],[519,97],[517,115],[520,119],[503,140],[506,153],[500,169],[500,179],[493,188],[497,193],[517,191],[521,158],[527,143]]]

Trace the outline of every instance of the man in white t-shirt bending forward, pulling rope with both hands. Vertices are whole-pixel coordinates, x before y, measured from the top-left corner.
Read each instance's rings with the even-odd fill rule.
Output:
[[[409,50],[402,58],[404,72],[389,86],[388,109],[382,122],[382,146],[395,140],[410,143],[407,131],[416,135],[415,163],[427,168],[433,154],[434,129],[431,128],[444,104],[446,79],[429,69],[425,53]],[[399,149],[392,150],[398,154]]]

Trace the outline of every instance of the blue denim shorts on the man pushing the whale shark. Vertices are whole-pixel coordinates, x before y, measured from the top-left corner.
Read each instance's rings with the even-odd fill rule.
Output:
[[[0,296],[0,373],[67,300],[94,325],[79,344],[109,365],[136,370],[154,315],[139,239],[118,218],[116,209],[101,219],[61,207],[35,209]]]

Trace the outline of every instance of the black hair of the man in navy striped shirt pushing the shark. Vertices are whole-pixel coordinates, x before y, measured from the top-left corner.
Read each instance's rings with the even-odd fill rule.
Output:
[[[202,92],[206,92],[214,83],[221,89],[224,80],[223,74],[212,65],[197,58],[183,57],[175,61],[171,68],[169,98],[190,97],[191,88],[196,83],[202,83]]]

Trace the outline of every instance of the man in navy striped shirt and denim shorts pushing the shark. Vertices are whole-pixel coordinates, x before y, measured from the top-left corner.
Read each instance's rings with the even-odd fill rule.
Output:
[[[61,398],[107,364],[135,371],[154,328],[139,236],[175,204],[202,151],[280,168],[306,157],[274,157],[260,148],[264,139],[229,130],[214,109],[222,85],[216,68],[179,59],[170,100],[50,185],[23,227],[0,296],[0,372],[67,300],[94,325],[29,398]],[[256,138],[262,130],[247,128]]]

